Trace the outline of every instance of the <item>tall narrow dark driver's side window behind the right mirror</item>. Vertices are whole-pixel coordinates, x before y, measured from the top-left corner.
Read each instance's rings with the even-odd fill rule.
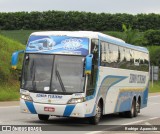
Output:
[[[92,71],[91,75],[88,75],[87,82],[87,96],[93,95],[95,87],[96,87],[96,79],[97,79],[97,71],[98,71],[98,55],[99,55],[99,47],[98,40],[92,39],[91,41],[91,53],[93,54],[92,61]]]

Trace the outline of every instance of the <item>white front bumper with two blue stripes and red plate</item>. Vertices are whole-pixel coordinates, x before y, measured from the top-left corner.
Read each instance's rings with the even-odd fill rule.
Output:
[[[23,113],[44,114],[63,117],[85,117],[84,103],[55,105],[43,104],[20,99],[20,110]]]

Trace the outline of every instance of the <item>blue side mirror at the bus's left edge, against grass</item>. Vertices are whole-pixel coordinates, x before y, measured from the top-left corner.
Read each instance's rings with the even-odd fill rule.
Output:
[[[24,50],[16,51],[12,54],[11,66],[12,66],[12,69],[14,70],[17,69],[18,56],[20,53],[24,53]]]

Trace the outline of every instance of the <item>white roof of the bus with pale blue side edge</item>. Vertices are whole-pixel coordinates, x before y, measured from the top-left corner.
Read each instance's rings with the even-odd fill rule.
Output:
[[[43,32],[34,32],[31,36],[72,36],[72,37],[86,37],[86,38],[96,38],[102,41],[106,41],[109,43],[113,43],[119,46],[131,48],[134,50],[142,51],[145,53],[149,53],[147,48],[134,46],[128,43],[125,43],[122,39],[112,37],[110,35],[106,35],[100,32],[93,32],[93,31],[43,31]]]

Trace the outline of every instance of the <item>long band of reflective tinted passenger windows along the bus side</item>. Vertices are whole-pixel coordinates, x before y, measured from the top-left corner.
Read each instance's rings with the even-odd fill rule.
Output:
[[[148,71],[147,53],[101,41],[101,66]]]

